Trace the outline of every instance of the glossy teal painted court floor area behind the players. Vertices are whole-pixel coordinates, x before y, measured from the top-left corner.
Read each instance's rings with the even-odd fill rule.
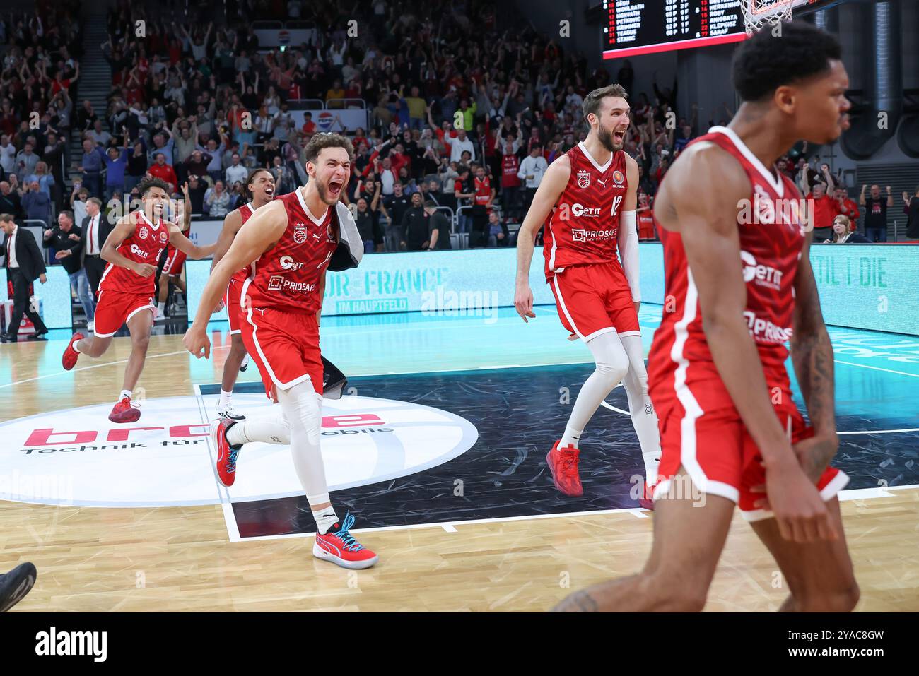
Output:
[[[536,319],[524,323],[511,308],[469,310],[457,314],[403,312],[323,317],[323,354],[350,377],[421,372],[466,371],[589,364],[591,355],[581,341],[567,340],[555,307],[535,308]],[[639,320],[645,352],[650,348],[662,307],[642,304]],[[210,324],[215,353],[227,344],[227,324]],[[154,332],[162,331],[159,327]],[[840,416],[866,419],[864,430],[919,427],[919,337],[830,327],[836,369],[836,411]],[[35,378],[55,384],[73,380],[61,368],[61,352],[70,332],[53,331],[43,346],[38,371],[17,369],[16,352],[0,350],[0,401],[11,404],[19,382]],[[128,339],[116,339],[124,340]],[[176,350],[179,348],[175,344]],[[39,345],[30,345],[42,349]],[[171,354],[175,354],[171,353]],[[151,352],[153,355],[153,351]],[[165,356],[165,355],[164,355]],[[214,366],[188,355],[193,382],[211,382]],[[93,367],[87,360],[79,369]],[[151,359],[146,369],[156,369]],[[789,363],[790,369],[790,363]],[[257,380],[255,369],[240,381]],[[141,385],[143,376],[141,378]],[[794,384],[800,403],[800,392]],[[110,392],[99,392],[103,399]],[[93,396],[90,394],[90,396]],[[8,417],[8,416],[7,416]],[[919,438],[919,437],[917,437]]]

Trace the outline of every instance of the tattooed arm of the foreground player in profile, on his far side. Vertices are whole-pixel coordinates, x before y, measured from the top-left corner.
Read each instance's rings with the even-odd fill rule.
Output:
[[[804,471],[816,481],[836,455],[839,438],[834,411],[833,344],[823,323],[811,267],[812,237],[813,232],[808,232],[795,275],[791,362],[815,433],[812,439],[796,445],[795,451]]]

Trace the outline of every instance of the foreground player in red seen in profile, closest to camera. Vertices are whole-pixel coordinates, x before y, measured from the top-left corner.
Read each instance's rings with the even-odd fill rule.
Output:
[[[834,355],[812,226],[774,166],[796,141],[832,143],[848,128],[848,76],[834,37],[797,22],[773,31],[736,51],[743,105],[728,127],[686,147],[655,203],[675,307],[649,362],[664,449],[651,558],[560,610],[701,610],[735,503],[788,580],[781,610],[857,603],[836,497],[847,479],[828,465],[838,445]],[[811,426],[791,400],[789,338]]]

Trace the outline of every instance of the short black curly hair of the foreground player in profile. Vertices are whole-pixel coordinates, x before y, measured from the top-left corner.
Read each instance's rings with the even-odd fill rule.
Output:
[[[782,85],[829,73],[830,62],[842,59],[839,40],[820,28],[803,21],[780,28],[766,26],[734,52],[732,80],[743,101],[763,101]]]

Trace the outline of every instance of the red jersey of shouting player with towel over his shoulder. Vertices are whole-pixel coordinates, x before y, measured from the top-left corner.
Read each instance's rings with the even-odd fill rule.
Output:
[[[335,207],[316,218],[298,188],[278,197],[287,209],[288,227],[278,243],[249,266],[243,307],[316,312],[323,304],[319,283],[338,246]]]

